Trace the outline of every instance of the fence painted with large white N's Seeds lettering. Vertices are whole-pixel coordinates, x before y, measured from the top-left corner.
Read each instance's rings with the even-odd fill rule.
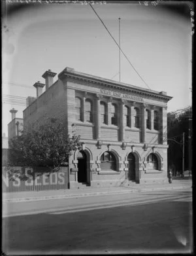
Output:
[[[44,191],[69,188],[69,168],[61,167],[57,172],[48,168],[22,168],[3,166],[3,192]]]

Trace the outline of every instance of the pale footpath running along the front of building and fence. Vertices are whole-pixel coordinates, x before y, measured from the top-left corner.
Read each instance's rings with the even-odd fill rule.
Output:
[[[131,192],[145,192],[145,191],[164,191],[164,190],[180,190],[191,189],[191,179],[173,179],[172,183],[165,184],[150,184],[129,185],[129,187],[104,187],[92,188],[85,187],[82,189],[60,189],[50,191],[23,191],[23,192],[3,192],[2,200],[6,202],[31,202],[39,200],[51,200],[61,198],[78,198],[84,196],[100,196],[104,194],[126,194]]]

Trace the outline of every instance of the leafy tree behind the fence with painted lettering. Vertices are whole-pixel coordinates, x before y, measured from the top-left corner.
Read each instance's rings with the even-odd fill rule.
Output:
[[[25,127],[22,135],[10,139],[9,166],[66,166],[78,148],[80,136],[68,136],[62,122],[47,119],[44,124]]]

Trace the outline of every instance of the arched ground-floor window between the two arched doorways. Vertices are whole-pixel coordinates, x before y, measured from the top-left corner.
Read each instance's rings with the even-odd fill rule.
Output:
[[[101,155],[101,170],[112,170],[116,171],[116,158],[115,156],[111,153],[106,151]]]

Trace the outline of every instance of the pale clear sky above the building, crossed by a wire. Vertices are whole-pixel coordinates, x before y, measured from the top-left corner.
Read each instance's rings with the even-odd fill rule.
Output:
[[[191,105],[191,5],[106,3],[92,5],[150,89],[172,96],[168,112]],[[2,20],[2,134],[7,136],[10,109],[23,118],[25,98],[36,96],[33,84],[42,74],[76,71],[148,88],[121,54],[91,9],[81,3],[8,4]],[[180,8],[179,8],[180,7]],[[181,11],[180,11],[181,10]],[[57,75],[54,77],[54,82]],[[13,98],[14,96],[14,98]],[[14,101],[20,99],[20,101]],[[11,100],[12,103],[10,102]],[[18,104],[21,105],[18,105]]]

